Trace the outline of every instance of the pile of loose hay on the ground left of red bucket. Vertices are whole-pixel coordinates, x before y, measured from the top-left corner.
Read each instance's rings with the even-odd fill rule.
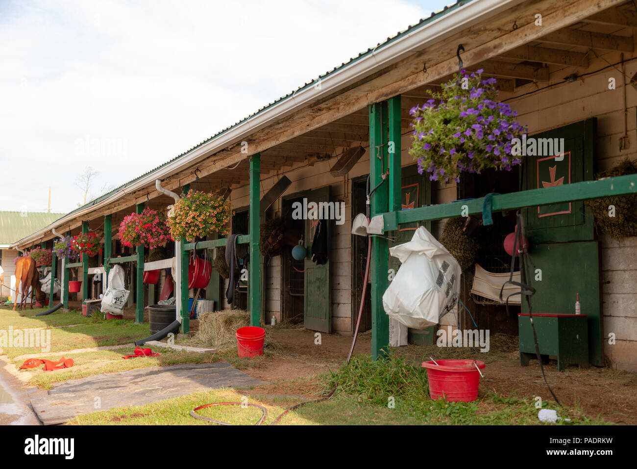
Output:
[[[234,333],[240,327],[250,325],[250,313],[243,309],[224,309],[199,316],[199,332],[196,338],[204,345],[217,350],[236,346]]]

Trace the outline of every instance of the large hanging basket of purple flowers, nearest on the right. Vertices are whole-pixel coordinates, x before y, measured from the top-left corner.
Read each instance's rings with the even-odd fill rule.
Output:
[[[456,73],[441,91],[429,91],[432,99],[410,110],[409,153],[431,181],[459,182],[462,171],[510,171],[522,162],[512,155],[512,140],[526,133],[526,126],[515,121],[517,112],[508,104],[497,101],[496,78],[482,80],[481,73]]]

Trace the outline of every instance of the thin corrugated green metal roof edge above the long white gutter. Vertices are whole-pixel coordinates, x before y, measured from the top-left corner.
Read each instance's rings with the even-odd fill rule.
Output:
[[[407,29],[405,29],[404,31],[398,31],[394,36],[391,36],[391,37],[387,38],[385,41],[382,41],[382,42],[378,43],[375,47],[368,48],[368,50],[366,50],[364,52],[361,52],[356,57],[351,57],[349,61],[341,63],[340,66],[336,66],[332,70],[326,71],[326,73],[324,73],[323,75],[319,75],[317,78],[314,78],[310,82],[306,82],[305,84],[303,84],[303,86],[299,86],[296,90],[292,91],[291,93],[288,93],[285,96],[282,96],[282,97],[272,101],[268,105],[259,108],[257,111],[253,112],[252,114],[248,115],[247,117],[244,117],[243,119],[241,119],[240,121],[234,123],[233,125],[231,125],[229,127],[226,127],[223,130],[218,131],[217,133],[215,133],[211,137],[206,138],[206,140],[203,140],[202,142],[199,142],[199,144],[194,145],[194,146],[190,147],[189,149],[187,149],[186,151],[183,151],[182,153],[178,154],[177,156],[175,156],[175,158],[172,158],[171,160],[166,161],[166,163],[162,163],[161,165],[153,168],[152,170],[149,170],[149,171],[145,172],[144,174],[141,174],[138,177],[135,177],[134,179],[131,179],[128,182],[125,182],[124,184],[122,184],[121,186],[118,186],[117,188],[111,190],[110,192],[105,193],[105,194],[101,195],[100,197],[97,197],[97,198],[95,198],[93,200],[90,200],[90,202],[87,202],[87,204],[82,205],[82,207],[78,207],[77,209],[75,209],[75,210],[73,210],[71,212],[68,212],[67,214],[62,214],[59,218],[62,218],[62,216],[71,215],[71,214],[73,214],[75,212],[82,211],[83,209],[91,207],[92,205],[99,204],[99,202],[101,202],[102,200],[110,197],[111,195],[117,193],[118,191],[121,191],[122,189],[126,188],[130,184],[132,184],[132,183],[134,183],[136,181],[139,181],[140,179],[142,179],[143,177],[147,176],[148,174],[152,174],[152,173],[160,170],[161,168],[165,167],[169,163],[172,163],[173,161],[178,160],[183,155],[185,155],[187,153],[190,153],[190,151],[192,151],[194,149],[197,149],[198,147],[201,147],[201,145],[206,144],[207,142],[210,142],[210,140],[212,140],[213,138],[219,137],[220,135],[223,135],[227,131],[233,129],[235,126],[238,126],[239,124],[247,121],[248,119],[251,119],[255,115],[261,114],[261,112],[264,112],[266,109],[268,109],[270,107],[273,107],[274,105],[291,98],[292,96],[294,96],[294,94],[298,93],[299,91],[301,91],[303,89],[307,89],[307,88],[312,87],[312,86],[315,86],[315,84],[317,84],[317,82],[319,82],[320,80],[323,80],[324,78],[329,77],[330,75],[333,75],[336,71],[342,70],[343,68],[347,68],[347,66],[350,66],[350,65],[360,61],[364,57],[367,57],[367,56],[369,56],[371,54],[374,54],[376,51],[381,50],[383,47],[387,47],[387,45],[390,45],[394,41],[399,40],[400,38],[402,38],[406,34],[412,33],[412,31],[415,31],[415,29],[419,29],[424,24],[427,24],[429,22],[433,22],[434,20],[440,19],[441,17],[450,14],[452,11],[457,10],[457,8],[459,8],[459,7],[463,6],[463,5],[466,5],[468,3],[471,3],[472,1],[475,1],[475,0],[457,0],[455,3],[450,4],[449,6],[445,6],[445,8],[443,8],[443,10],[434,11],[433,13],[431,13],[431,16],[429,16],[428,18],[420,19],[419,22],[417,22],[416,24],[408,26]],[[54,222],[54,221],[57,221],[59,218],[57,218],[55,220],[51,220],[51,223]],[[29,234],[31,234],[31,232],[25,234],[25,236],[29,235]],[[20,241],[20,239],[22,239],[22,238],[18,238],[15,241]]]

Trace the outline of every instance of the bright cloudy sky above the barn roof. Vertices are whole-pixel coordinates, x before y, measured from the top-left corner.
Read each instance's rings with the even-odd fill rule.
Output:
[[[450,0],[0,0],[0,211],[69,212]]]

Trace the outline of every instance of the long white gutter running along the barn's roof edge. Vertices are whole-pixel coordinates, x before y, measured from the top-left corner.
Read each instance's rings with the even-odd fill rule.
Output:
[[[272,121],[292,114],[292,112],[303,108],[318,98],[336,93],[340,89],[361,80],[361,78],[366,75],[382,70],[382,68],[396,63],[417,50],[444,40],[462,31],[462,29],[466,29],[469,25],[485,19],[485,17],[495,15],[499,13],[499,11],[507,10],[523,2],[524,0],[473,0],[468,4],[459,6],[451,13],[443,15],[432,22],[426,22],[422,24],[419,29],[394,40],[394,42],[388,45],[378,48],[377,52],[374,50],[372,54],[361,57],[361,59],[358,59],[355,63],[345,66],[325,78],[320,78],[320,87],[308,86],[306,89],[298,92],[295,91],[290,98],[276,103],[257,115],[248,117],[247,120],[236,124],[236,126],[218,135],[218,137],[212,138],[208,142],[176,158],[174,161],[166,163],[166,165],[157,172],[148,174],[139,181],[132,183],[131,186],[122,188],[121,191],[102,200],[99,204],[91,205],[82,211],[74,213],[68,218],[62,218],[56,223],[62,225],[65,220],[82,218],[85,214],[115,202],[115,200],[122,197],[122,195],[149,186],[155,179],[166,179],[166,177],[194,163],[198,163],[207,156],[210,156],[210,154],[217,153],[231,144],[245,140],[252,133],[267,126]],[[49,225],[49,227],[51,226],[52,225]],[[47,227],[47,229],[49,227]],[[41,232],[45,232],[47,229]],[[41,236],[41,232],[36,232],[20,241],[27,242],[31,238],[37,239]],[[20,241],[12,244],[12,246],[17,246]]]

